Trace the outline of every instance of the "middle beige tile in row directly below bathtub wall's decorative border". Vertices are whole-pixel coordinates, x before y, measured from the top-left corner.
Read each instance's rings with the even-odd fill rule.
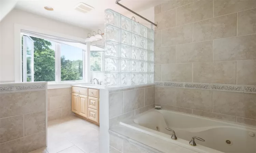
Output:
[[[212,91],[177,88],[176,106],[212,111]]]

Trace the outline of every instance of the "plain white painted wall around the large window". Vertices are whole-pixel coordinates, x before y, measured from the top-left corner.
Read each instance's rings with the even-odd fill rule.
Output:
[[[14,82],[14,24],[86,38],[89,30],[14,9],[0,22],[0,82]]]

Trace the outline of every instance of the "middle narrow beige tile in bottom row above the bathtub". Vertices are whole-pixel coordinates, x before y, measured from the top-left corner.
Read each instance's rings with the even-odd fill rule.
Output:
[[[236,122],[236,116],[199,111],[199,110],[195,110],[195,109],[193,109],[193,114],[203,116],[203,117],[209,117],[209,118],[215,118],[215,119],[221,119],[221,120]]]

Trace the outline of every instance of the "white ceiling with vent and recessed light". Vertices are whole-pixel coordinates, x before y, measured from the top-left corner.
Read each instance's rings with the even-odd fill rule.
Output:
[[[95,10],[86,14],[74,10],[74,6],[79,2],[90,5]],[[140,12],[160,2],[161,0],[122,0],[119,3],[135,12]],[[54,11],[46,11],[44,6],[51,6]],[[104,26],[104,10],[106,8],[128,17],[131,14],[115,4],[115,0],[18,0],[15,8],[90,30]]]

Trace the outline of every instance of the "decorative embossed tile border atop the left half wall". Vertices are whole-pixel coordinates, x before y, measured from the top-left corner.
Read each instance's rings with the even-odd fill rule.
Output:
[[[45,89],[45,84],[34,85],[5,85],[0,87],[0,92],[22,91],[22,90],[37,90]]]

